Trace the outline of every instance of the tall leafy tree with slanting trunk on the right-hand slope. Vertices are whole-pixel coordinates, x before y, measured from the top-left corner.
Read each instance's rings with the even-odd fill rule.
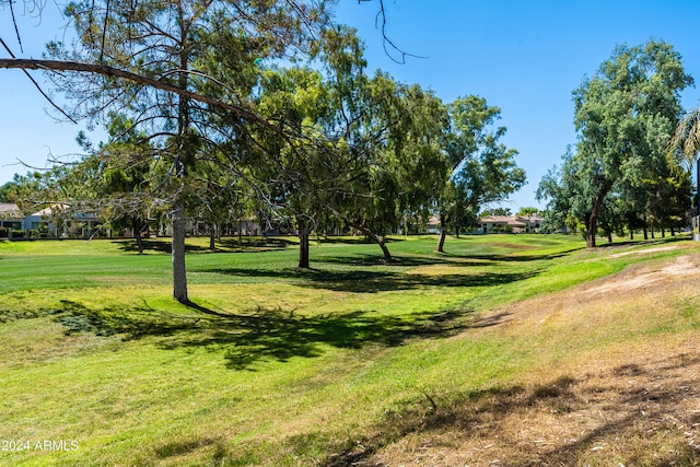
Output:
[[[650,159],[665,153],[681,113],[679,92],[692,83],[672,45],[619,46],[573,93],[579,132],[573,202],[594,247],[606,197]],[[637,185],[639,187],[639,185]]]

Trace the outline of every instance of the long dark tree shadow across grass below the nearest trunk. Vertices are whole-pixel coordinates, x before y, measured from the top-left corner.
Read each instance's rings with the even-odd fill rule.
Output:
[[[90,308],[63,301],[54,312],[66,334],[92,332],[124,340],[156,337],[163,349],[206,348],[220,351],[226,366],[252,370],[259,361],[314,358],[324,347],[361,349],[400,346],[408,339],[453,336],[471,327],[495,326],[470,311],[424,312],[402,316],[357,311],[306,316],[281,308],[258,307],[228,314],[192,304],[192,313],[160,312],[148,306]]]

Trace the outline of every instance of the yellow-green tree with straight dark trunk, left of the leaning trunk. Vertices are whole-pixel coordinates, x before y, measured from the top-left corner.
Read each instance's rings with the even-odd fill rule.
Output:
[[[300,240],[299,267],[310,267],[310,236],[343,171],[332,142],[319,144],[331,118],[329,95],[318,71],[269,70],[262,80],[260,110],[295,128],[301,138],[285,141],[275,132],[259,138],[260,153],[248,161],[268,215],[293,220]]]

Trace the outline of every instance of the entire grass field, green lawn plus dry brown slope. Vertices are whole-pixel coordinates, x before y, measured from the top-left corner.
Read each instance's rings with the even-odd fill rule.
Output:
[[[0,465],[700,464],[700,246],[435,242],[0,242]]]

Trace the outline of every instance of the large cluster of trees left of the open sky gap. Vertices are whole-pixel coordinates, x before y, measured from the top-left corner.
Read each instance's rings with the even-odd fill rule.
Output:
[[[264,212],[291,220],[308,267],[314,230],[373,238],[407,215],[463,227],[525,183],[500,142],[500,109],[478,96],[368,75],[362,44],[323,1],[84,0],[66,15],[75,42],[48,45],[43,68],[71,118],[107,126],[79,138],[88,156],[45,178],[42,200],[98,209],[135,232],[172,224],[173,295],[187,303],[185,222]],[[46,182],[48,179],[48,182]],[[37,188],[34,183],[34,188]]]

